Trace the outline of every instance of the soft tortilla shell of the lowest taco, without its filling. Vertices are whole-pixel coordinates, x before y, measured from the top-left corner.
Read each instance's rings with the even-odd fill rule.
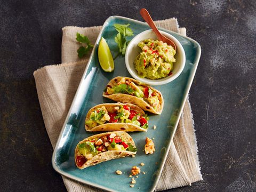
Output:
[[[77,146],[76,146],[76,149],[75,149],[75,163],[76,163],[76,166],[78,167],[78,169],[85,169],[86,167],[89,167],[89,166],[92,166],[92,165],[96,165],[96,164],[99,164],[101,162],[109,161],[111,159],[127,157],[127,156],[135,157],[135,154],[137,152],[126,151],[126,150],[110,150],[110,151],[106,151],[106,152],[100,153],[98,155],[95,155],[94,157],[92,157],[91,159],[86,161],[83,164],[83,166],[79,167],[77,165],[76,156],[77,156],[77,153],[78,153],[78,145],[80,143],[83,143],[83,142],[86,142],[86,141],[90,141],[90,140],[92,140],[94,138],[100,138],[100,137],[103,137],[103,136],[105,136],[107,134],[111,134],[111,133],[116,133],[116,135],[122,137],[122,139],[124,139],[126,143],[131,143],[131,145],[133,145],[136,148],[135,143],[134,143],[132,137],[128,133],[126,133],[124,131],[113,131],[113,132],[107,132],[107,133],[101,133],[101,134],[92,135],[91,137],[85,138],[84,140],[80,141],[77,144]]]

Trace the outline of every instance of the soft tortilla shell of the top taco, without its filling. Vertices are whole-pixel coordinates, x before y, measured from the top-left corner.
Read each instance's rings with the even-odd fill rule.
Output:
[[[159,93],[159,96],[158,96],[159,108],[157,110],[155,110],[152,106],[150,106],[143,99],[135,97],[133,95],[129,95],[129,94],[116,93],[116,94],[106,95],[105,91],[104,91],[103,92],[103,97],[106,97],[106,98],[109,98],[111,100],[118,101],[118,102],[132,103],[134,105],[139,106],[141,109],[149,111],[149,112],[154,113],[154,114],[160,115],[162,113],[163,107],[164,107],[164,99],[163,99],[162,93],[160,91],[154,89],[153,87],[146,85],[145,83],[141,83],[141,82],[139,82],[139,81],[137,81],[133,78],[129,78],[129,77],[115,77],[115,78],[110,80],[110,82],[107,84],[107,86],[110,86],[110,87],[115,86],[116,82],[119,82],[121,80],[121,78],[125,78],[126,80],[130,80],[131,82],[135,83],[136,85],[142,85],[142,86],[149,87],[151,90],[154,90],[155,92]]]

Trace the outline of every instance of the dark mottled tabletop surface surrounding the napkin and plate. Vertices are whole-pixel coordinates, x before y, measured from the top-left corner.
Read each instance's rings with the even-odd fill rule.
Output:
[[[65,191],[33,71],[61,62],[61,28],[111,15],[178,18],[202,46],[190,90],[204,181],[171,191],[256,191],[256,1],[1,1],[1,191]]]

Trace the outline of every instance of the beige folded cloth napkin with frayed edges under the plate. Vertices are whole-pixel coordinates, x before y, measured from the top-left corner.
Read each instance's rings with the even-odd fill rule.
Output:
[[[185,28],[179,28],[177,19],[155,21],[156,25],[186,35]],[[95,43],[102,26],[64,27],[62,35],[62,64],[45,66],[34,72],[36,89],[45,127],[53,148],[59,137],[71,102],[81,80],[89,55],[84,60],[77,57],[80,46],[76,33],[89,37]],[[62,176],[68,191],[101,191]],[[156,191],[191,185],[200,181],[197,143],[193,115],[187,99],[167,156]]]

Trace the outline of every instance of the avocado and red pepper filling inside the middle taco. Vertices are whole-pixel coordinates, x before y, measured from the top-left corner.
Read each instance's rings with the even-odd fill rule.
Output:
[[[109,107],[108,109],[102,106],[91,113],[85,124],[92,129],[106,123],[132,123],[143,129],[148,129],[148,119],[147,115],[142,116],[138,111],[131,110],[127,105]]]

